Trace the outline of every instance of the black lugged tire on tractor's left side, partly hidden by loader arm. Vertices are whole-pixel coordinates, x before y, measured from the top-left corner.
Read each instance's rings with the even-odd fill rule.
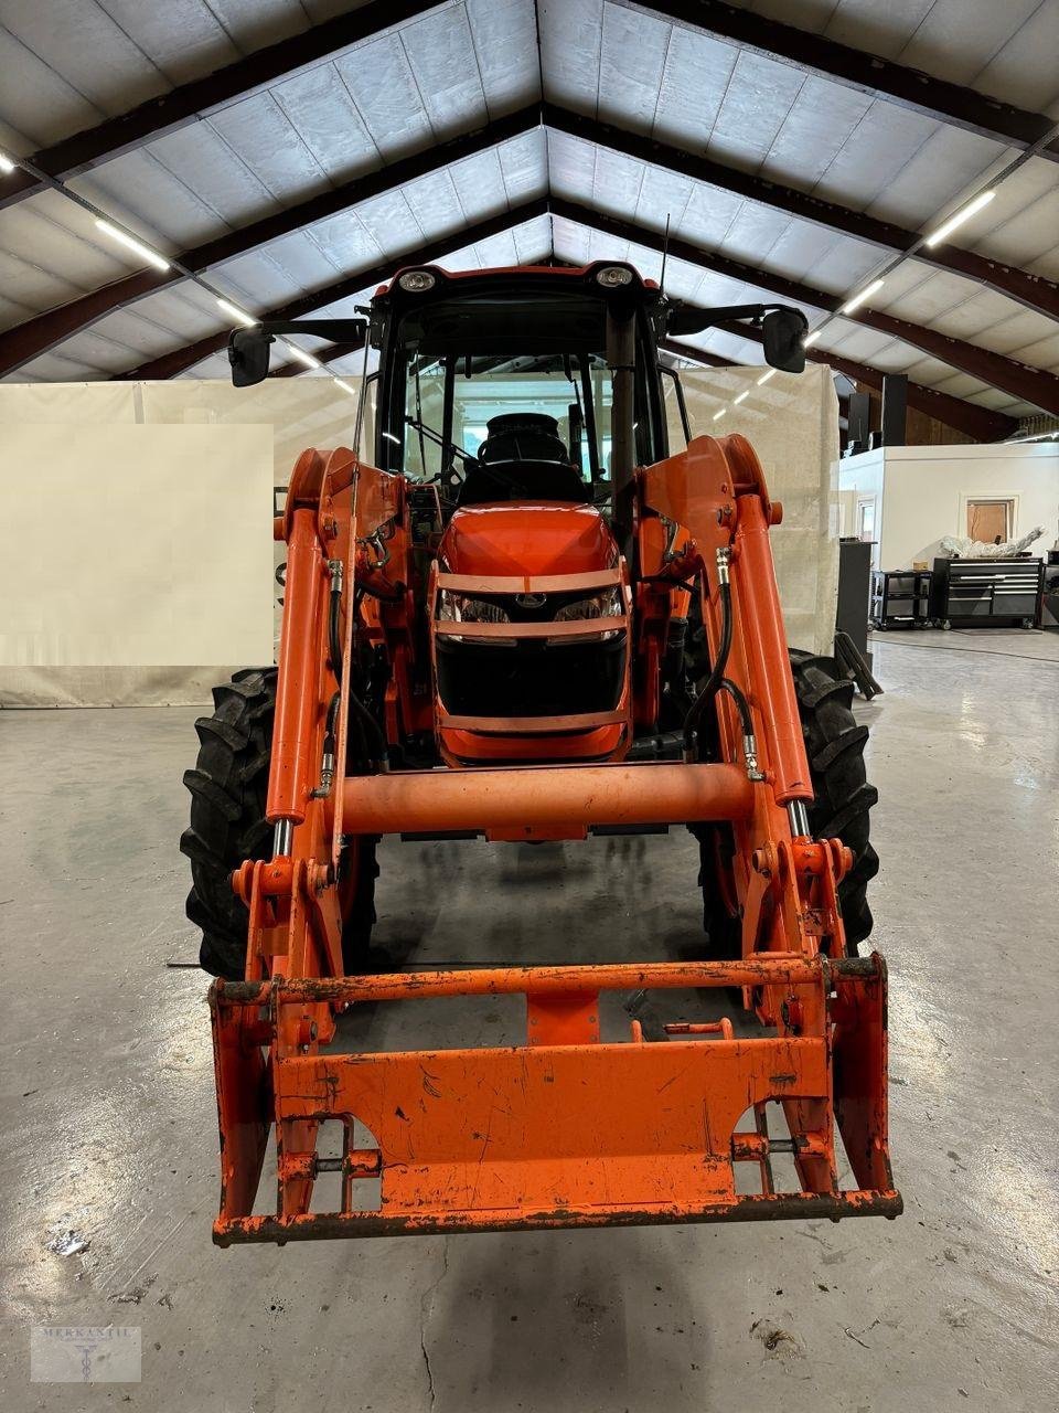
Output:
[[[277,670],[261,667],[244,668],[215,687],[213,715],[195,722],[199,759],[184,774],[191,791],[191,827],[181,835],[181,853],[191,859],[192,876],[186,914],[202,928],[202,968],[226,981],[246,975],[249,924],[246,904],[232,892],[232,873],[246,859],[267,859],[273,849],[265,798],[275,682]],[[376,920],[374,839],[357,841],[352,865],[356,885],[342,935],[347,972],[363,964]]]

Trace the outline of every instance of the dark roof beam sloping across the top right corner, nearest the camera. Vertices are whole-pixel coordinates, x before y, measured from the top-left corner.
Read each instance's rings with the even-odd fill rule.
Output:
[[[1055,127],[1055,119],[1043,113],[1031,113],[962,83],[935,78],[922,69],[854,49],[751,10],[723,4],[722,0],[650,0],[647,4],[627,4],[627,8],[662,16],[686,30],[716,35],[740,49],[762,54],[1005,147],[1025,151]],[[1059,146],[1045,147],[1041,155],[1059,161]]]

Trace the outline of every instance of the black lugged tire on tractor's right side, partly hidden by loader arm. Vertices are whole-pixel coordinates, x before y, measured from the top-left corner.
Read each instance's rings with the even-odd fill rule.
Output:
[[[857,944],[871,933],[873,917],[867,886],[878,873],[878,855],[868,838],[868,811],[878,791],[867,783],[864,743],[867,726],[858,726],[851,709],[853,682],[836,677],[833,658],[791,649],[798,712],[809,757],[813,801],[809,832],[815,839],[842,839],[853,851],[853,868],[839,883],[839,910],[846,931],[846,954],[857,955]],[[730,877],[734,841],[729,825],[700,825],[699,886],[703,896],[703,927],[710,955],[738,957],[741,918],[724,903],[719,872]]]

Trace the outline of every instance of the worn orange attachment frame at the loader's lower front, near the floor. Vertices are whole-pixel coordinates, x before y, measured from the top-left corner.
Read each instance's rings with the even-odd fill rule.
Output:
[[[798,1034],[736,1039],[731,1027],[686,1026],[688,1039],[599,1041],[600,991],[747,986],[798,1006]],[[524,993],[530,1043],[504,1050],[292,1054],[271,1067],[284,1128],[343,1125],[340,1160],[280,1154],[281,1197],[337,1173],[333,1210],[253,1215],[240,1173],[260,1171],[268,1102],[265,1068],[247,1057],[261,1015],[305,1002],[356,1005],[425,996]],[[836,1046],[849,1044],[836,1006],[881,1033],[881,958],[515,968],[381,975],[319,982],[217,983],[210,1005],[227,1180],[222,1245],[321,1236],[393,1236],[641,1222],[895,1217],[901,1198],[885,1166],[885,1106],[851,1067],[832,1101]],[[267,1022],[265,1022],[267,1024]],[[706,1030],[707,1034],[702,1034]],[[712,1031],[712,1033],[710,1033]],[[682,1034],[679,1027],[675,1034]],[[885,1053],[878,1060],[885,1063]],[[877,1080],[878,1075],[874,1075]],[[791,1139],[770,1137],[770,1101]],[[830,1128],[843,1137],[856,1187],[839,1191]],[[750,1113],[744,1128],[740,1119]],[[356,1116],[377,1146],[357,1149]],[[247,1122],[249,1121],[249,1122]],[[792,1122],[794,1121],[794,1122]],[[840,1118],[842,1122],[842,1118]],[[282,1147],[282,1145],[281,1145]],[[792,1153],[805,1184],[777,1193],[775,1153]],[[754,1167],[758,1194],[737,1195],[736,1164]],[[354,1205],[354,1183],[381,1178],[378,1210]]]

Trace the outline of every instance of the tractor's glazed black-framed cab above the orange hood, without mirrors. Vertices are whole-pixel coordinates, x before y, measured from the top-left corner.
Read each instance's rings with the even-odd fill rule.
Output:
[[[661,291],[631,266],[405,270],[371,304],[376,458],[442,503],[596,504],[666,455]]]

